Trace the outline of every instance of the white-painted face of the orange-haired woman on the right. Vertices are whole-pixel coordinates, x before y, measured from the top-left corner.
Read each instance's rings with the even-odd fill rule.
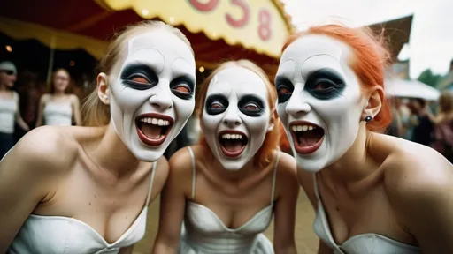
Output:
[[[281,56],[277,111],[304,170],[331,165],[357,138],[366,100],[348,63],[352,54],[342,41],[311,34]]]

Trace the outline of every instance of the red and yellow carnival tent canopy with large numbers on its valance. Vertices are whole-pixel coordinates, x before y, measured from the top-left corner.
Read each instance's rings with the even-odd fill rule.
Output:
[[[247,58],[270,76],[292,32],[279,0],[14,0],[2,4],[0,32],[41,41],[50,49],[85,49],[99,59],[113,32],[143,19],[180,28],[199,67]]]

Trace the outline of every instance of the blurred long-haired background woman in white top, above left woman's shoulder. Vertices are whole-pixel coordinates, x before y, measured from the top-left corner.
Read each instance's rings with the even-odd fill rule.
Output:
[[[66,93],[70,81],[69,72],[63,68],[53,73],[50,93],[43,94],[39,101],[36,127],[43,124],[69,126],[73,120],[76,125],[81,125],[79,98]]]

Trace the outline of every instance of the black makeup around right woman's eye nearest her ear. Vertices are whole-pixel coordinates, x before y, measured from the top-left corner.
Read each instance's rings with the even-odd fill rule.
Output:
[[[319,100],[332,100],[342,95],[346,84],[333,69],[312,72],[305,83],[305,90]]]

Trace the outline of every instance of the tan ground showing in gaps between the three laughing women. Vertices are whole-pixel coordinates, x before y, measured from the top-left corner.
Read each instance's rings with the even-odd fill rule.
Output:
[[[158,220],[158,198],[150,205],[148,210],[146,235],[140,243],[135,244],[134,254],[150,254],[154,237],[157,234]],[[318,238],[311,229],[311,223],[314,218],[314,212],[311,208],[310,201],[303,191],[299,195],[297,202],[296,217],[296,246],[297,253],[314,254],[318,249]],[[265,235],[273,239],[273,224],[265,231]]]

